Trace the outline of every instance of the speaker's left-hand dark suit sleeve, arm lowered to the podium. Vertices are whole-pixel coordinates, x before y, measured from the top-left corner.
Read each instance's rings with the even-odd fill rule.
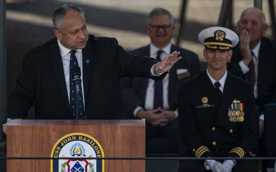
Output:
[[[15,89],[9,96],[8,117],[25,119],[36,95],[36,76],[28,54],[24,55],[22,69]]]

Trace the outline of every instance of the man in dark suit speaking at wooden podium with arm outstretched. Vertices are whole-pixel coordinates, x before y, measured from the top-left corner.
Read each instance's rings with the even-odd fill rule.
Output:
[[[180,52],[175,51],[158,63],[124,51],[115,38],[88,35],[84,13],[74,5],[59,7],[53,14],[53,25],[56,38],[24,56],[9,96],[9,118],[24,119],[35,101],[35,119],[84,119],[82,111],[76,114],[71,78],[71,67],[79,66],[80,105],[87,119],[123,119],[120,78],[160,80],[181,59],[177,57]]]

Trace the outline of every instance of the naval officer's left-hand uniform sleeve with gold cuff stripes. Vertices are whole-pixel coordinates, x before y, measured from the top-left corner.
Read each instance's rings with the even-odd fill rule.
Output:
[[[178,99],[180,139],[195,157],[212,157],[209,148],[202,141],[192,107],[192,95],[184,82]]]

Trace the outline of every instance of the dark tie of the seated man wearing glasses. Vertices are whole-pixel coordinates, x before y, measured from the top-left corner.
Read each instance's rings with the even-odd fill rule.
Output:
[[[156,60],[161,61],[160,55],[163,53],[162,50],[157,52]],[[154,102],[153,109],[161,107],[163,109],[163,81],[154,81]]]

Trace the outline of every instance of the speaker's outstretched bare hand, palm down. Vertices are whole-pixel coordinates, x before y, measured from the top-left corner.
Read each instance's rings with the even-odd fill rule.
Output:
[[[173,65],[179,61],[182,57],[177,57],[180,55],[180,52],[174,51],[172,54],[167,55],[164,60],[162,60],[160,63],[158,63],[156,66],[153,66],[152,71],[154,74],[159,75],[163,72],[169,71]],[[154,71],[155,67],[155,71]]]

